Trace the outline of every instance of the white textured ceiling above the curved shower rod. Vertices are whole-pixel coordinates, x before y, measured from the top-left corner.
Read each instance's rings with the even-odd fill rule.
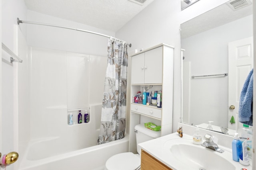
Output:
[[[130,0],[24,0],[24,2],[28,10],[115,32],[153,0],[146,0],[143,5]]]

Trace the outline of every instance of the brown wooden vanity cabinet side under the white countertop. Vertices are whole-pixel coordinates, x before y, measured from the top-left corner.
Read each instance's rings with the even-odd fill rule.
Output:
[[[172,170],[146,151],[141,150],[141,170]]]

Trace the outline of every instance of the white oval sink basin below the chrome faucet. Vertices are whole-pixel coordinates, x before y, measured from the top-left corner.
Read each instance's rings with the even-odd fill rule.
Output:
[[[194,145],[190,139],[171,139],[164,143],[164,148],[168,148],[176,161],[194,170],[236,169],[232,153],[219,153],[201,145]]]

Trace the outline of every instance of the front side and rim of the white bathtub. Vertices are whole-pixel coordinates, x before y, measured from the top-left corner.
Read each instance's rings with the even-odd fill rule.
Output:
[[[108,158],[114,154],[128,152],[128,148],[129,135],[126,135],[117,141],[41,159],[33,159],[32,155],[26,154],[19,170],[104,170]],[[40,152],[34,153],[34,156],[40,158],[40,154]]]

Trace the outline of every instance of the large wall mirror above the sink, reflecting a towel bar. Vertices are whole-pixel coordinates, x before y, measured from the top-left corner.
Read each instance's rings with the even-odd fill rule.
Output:
[[[253,68],[252,63],[247,66],[242,71],[243,76],[239,77],[236,92],[229,92],[229,86],[234,84],[229,81],[236,72],[229,70],[230,62],[234,63],[233,59],[229,59],[229,48],[231,50],[234,42],[253,35],[250,0],[246,0],[247,6],[238,9],[230,8],[233,1],[181,24],[181,48],[185,50],[182,51],[181,122],[209,129],[208,121],[212,121],[213,128],[210,129],[222,131],[221,127],[224,127],[223,131],[228,130],[229,135],[234,135],[242,123],[238,121],[239,104],[230,104],[228,95],[240,97],[244,81]],[[243,48],[240,55],[248,51]],[[229,105],[234,105],[236,109],[229,109]],[[235,123],[230,123],[232,115]]]

